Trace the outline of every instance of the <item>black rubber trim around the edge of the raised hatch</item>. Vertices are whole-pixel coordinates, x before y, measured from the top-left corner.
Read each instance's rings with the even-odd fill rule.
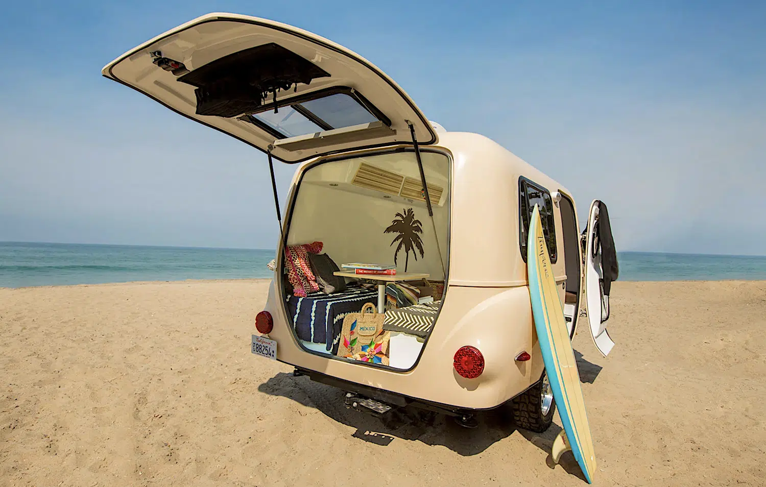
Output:
[[[325,47],[326,49],[329,49],[331,51],[335,51],[338,54],[344,55],[345,57],[349,57],[349,59],[357,62],[358,64],[362,64],[362,66],[367,67],[368,70],[371,70],[373,73],[377,74],[378,77],[381,78],[381,80],[384,80],[388,84],[388,86],[390,86],[396,93],[398,93],[399,96],[401,96],[402,100],[405,100],[408,103],[408,105],[411,107],[411,109],[417,115],[417,117],[419,119],[421,119],[421,122],[424,123],[424,125],[427,127],[428,131],[431,134],[430,141],[423,142],[424,145],[429,145],[429,144],[433,144],[434,142],[436,142],[436,140],[437,140],[436,132],[434,132],[434,129],[430,126],[430,123],[428,122],[428,120],[424,118],[423,114],[421,113],[421,110],[418,109],[417,106],[414,106],[414,103],[411,103],[410,100],[405,98],[404,97],[404,93],[398,87],[396,87],[396,85],[392,84],[391,80],[388,80],[388,79],[386,79],[386,77],[382,76],[381,71],[379,71],[375,67],[372,67],[372,65],[366,63],[364,60],[362,60],[360,58],[349,56],[349,54],[347,54],[347,53],[345,53],[343,51],[340,51],[337,47],[334,47],[334,46],[332,46],[330,44],[326,44],[326,43],[324,43],[322,41],[319,41],[319,40],[316,40],[316,39],[313,39],[313,38],[309,38],[309,36],[300,34],[298,32],[293,32],[293,31],[290,31],[290,30],[288,30],[286,28],[281,28],[281,27],[276,26],[276,25],[267,25],[267,24],[264,24],[263,22],[252,21],[252,20],[245,20],[245,19],[242,19],[242,18],[214,17],[214,18],[208,18],[205,21],[201,21],[201,22],[198,22],[198,23],[193,24],[193,25],[189,25],[185,29],[182,29],[182,30],[179,30],[179,31],[173,31],[172,33],[167,34],[167,35],[163,36],[162,38],[156,38],[156,39],[154,39],[152,44],[156,44],[159,41],[162,41],[162,40],[164,40],[166,38],[169,38],[172,35],[176,35],[176,34],[182,32],[182,31],[185,31],[187,29],[195,28],[198,25],[203,25],[203,24],[207,24],[208,22],[214,22],[214,21],[240,22],[242,24],[258,25],[260,27],[270,28],[270,29],[273,29],[275,31],[282,31],[282,32],[284,32],[286,34],[293,35],[296,38],[304,39],[306,41],[310,41],[310,42],[313,42],[315,44],[319,44],[322,47]],[[152,44],[149,44],[149,45],[152,45]],[[232,137],[234,137],[234,139],[237,139],[237,140],[239,140],[241,142],[244,142],[247,145],[250,145],[251,147],[254,147],[255,149],[260,150],[260,152],[264,152],[264,153],[267,152],[266,149],[261,149],[257,145],[255,145],[255,144],[253,144],[251,142],[247,142],[247,140],[242,139],[241,137],[234,136],[233,134],[231,134],[230,132],[225,131],[224,129],[219,129],[218,127],[211,126],[209,123],[202,122],[200,119],[195,119],[192,116],[188,116],[185,113],[179,112],[177,109],[173,108],[172,106],[169,106],[169,105],[163,103],[161,100],[156,99],[154,96],[150,95],[149,93],[146,93],[146,91],[139,90],[137,87],[131,86],[129,83],[126,83],[123,80],[120,80],[118,77],[116,77],[114,75],[114,73],[112,72],[113,67],[115,67],[117,64],[121,63],[123,60],[126,60],[128,57],[133,56],[133,54],[136,54],[137,52],[142,51],[143,49],[146,49],[147,47],[149,47],[149,46],[138,47],[136,49],[133,49],[132,51],[128,51],[126,54],[123,54],[122,57],[119,57],[118,60],[116,60],[115,62],[113,62],[113,64],[111,64],[111,66],[109,68],[109,76],[103,75],[103,77],[106,77],[106,78],[111,77],[111,79],[116,81],[117,83],[123,84],[126,87],[132,88],[133,90],[136,90],[137,92],[142,93],[142,94],[148,96],[149,98],[151,98],[152,100],[155,100],[155,102],[159,103],[160,105],[165,106],[165,108],[169,108],[172,111],[174,111],[175,113],[178,113],[178,115],[181,115],[181,116],[184,116],[185,118],[194,120],[195,122],[201,123],[204,126],[208,126],[211,129],[218,130],[218,132],[225,133],[228,136],[232,136]],[[362,150],[362,149],[374,149],[374,148],[377,148],[377,147],[385,147],[386,145],[400,145],[400,144],[407,144],[407,142],[384,142],[384,143],[380,143],[380,144],[371,144],[371,145],[354,147],[352,149],[339,149],[339,150],[336,150],[336,151],[329,151],[329,152],[325,152],[325,153],[321,153],[321,154],[309,155],[308,157],[305,157],[303,159],[298,159],[296,161],[285,161],[284,159],[278,158],[276,155],[274,155],[273,157],[274,157],[274,159],[278,159],[281,162],[284,162],[286,164],[299,164],[300,162],[305,162],[305,161],[308,161],[309,159],[314,159],[315,157],[320,157],[320,156],[323,156],[323,155],[332,155],[332,154],[339,154],[341,152],[348,152],[348,151],[351,151],[351,150],[356,151],[356,150]]]

